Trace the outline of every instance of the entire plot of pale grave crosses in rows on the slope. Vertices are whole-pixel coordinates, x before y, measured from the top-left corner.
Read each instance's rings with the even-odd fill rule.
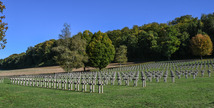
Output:
[[[181,78],[211,77],[213,60],[169,61],[52,75],[11,77],[14,85],[32,86],[88,93],[104,93],[108,86],[146,87],[149,83],[175,83]],[[2,79],[1,79],[2,81]],[[187,80],[188,81],[188,80]]]

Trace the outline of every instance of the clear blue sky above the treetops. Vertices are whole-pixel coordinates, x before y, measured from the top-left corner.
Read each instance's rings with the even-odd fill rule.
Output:
[[[199,17],[214,12],[214,0],[1,0],[6,5],[7,44],[0,59],[22,53],[29,46],[58,39],[63,24],[72,35],[90,30],[131,28],[166,23],[182,15]]]

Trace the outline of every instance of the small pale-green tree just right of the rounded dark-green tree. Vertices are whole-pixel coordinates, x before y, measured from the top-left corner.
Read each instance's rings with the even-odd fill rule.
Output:
[[[116,49],[115,54],[115,62],[120,63],[126,63],[127,62],[127,47],[125,45],[121,45],[119,48]]]

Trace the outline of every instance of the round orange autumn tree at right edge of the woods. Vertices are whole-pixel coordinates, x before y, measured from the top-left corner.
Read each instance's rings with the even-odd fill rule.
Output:
[[[196,56],[211,55],[213,50],[213,44],[208,35],[198,34],[192,37],[190,40],[191,49]]]

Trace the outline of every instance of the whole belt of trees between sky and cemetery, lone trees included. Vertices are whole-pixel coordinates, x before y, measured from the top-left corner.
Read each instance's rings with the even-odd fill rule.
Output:
[[[206,47],[209,49],[205,51],[199,50],[200,47],[196,48],[198,45],[195,43],[198,38],[193,38],[195,36],[203,38],[205,43],[208,42],[209,45]],[[52,39],[29,47],[25,53],[13,54],[0,60],[0,68],[15,69],[61,64],[64,67],[70,66],[70,69],[87,66],[102,69],[110,62],[124,63],[127,59],[152,61],[191,59],[206,55],[213,57],[213,41],[214,13],[203,14],[200,19],[185,15],[168,23],[134,25],[132,28],[124,27],[106,33],[101,31],[92,33],[85,30],[73,37]],[[63,45],[65,43],[67,46]],[[127,57],[121,52],[127,54]]]

